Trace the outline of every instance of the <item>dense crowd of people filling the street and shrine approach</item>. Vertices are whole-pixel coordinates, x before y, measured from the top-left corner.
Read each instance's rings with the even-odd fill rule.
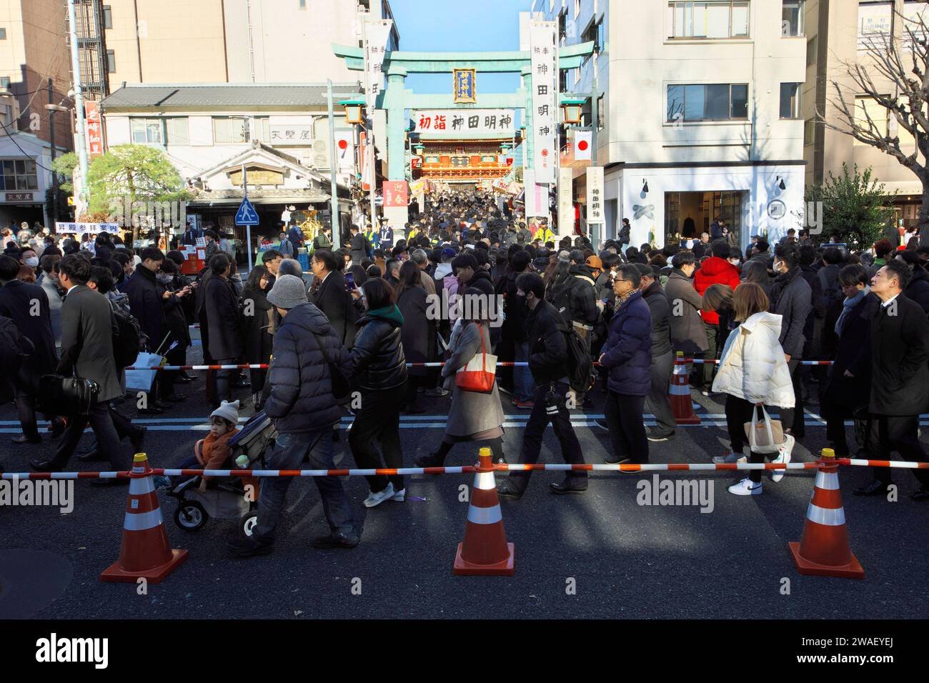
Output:
[[[328,229],[311,243],[299,231],[281,232],[245,282],[218,247],[202,272],[185,276],[180,252],[135,254],[109,235],[93,248],[68,240],[60,250],[51,236],[5,238],[0,334],[11,340],[9,362],[19,372],[0,399],[16,401],[23,433],[14,441],[42,439],[36,378],[76,374],[97,381],[98,402],[78,417],[46,413],[53,438],[63,436],[54,456],[33,467],[67,466],[89,424],[96,444],[79,457],[125,469],[120,440],[138,450],[144,428],[117,408],[126,392],[118,359],[135,344],[184,365],[189,326],[199,323],[204,362],[268,365],[248,376],[210,374],[205,392],[216,434],[198,445],[201,464],[228,455],[237,387],[249,387],[255,411],[274,420],[272,469],[334,467],[334,441],[349,413],[347,446],[356,465],[401,467],[400,414],[425,412],[421,395],[450,394],[445,433],[417,466],[443,465],[460,441],[486,443],[496,462],[507,462],[504,401],[529,411],[516,462],[538,460],[551,424],[565,462],[583,464],[569,411],[592,409],[598,393],[604,420],[597,425],[609,442],[604,460],[644,464],[649,444],[675,438],[668,387],[678,353],[704,361],[688,366],[690,384],[725,405],[730,448],[714,462],[790,462],[805,438],[805,405],[819,407],[839,456],[851,453],[845,421],[854,420],[869,457],[896,451],[929,460],[918,436],[919,415],[929,409],[929,247],[896,249],[881,240],[850,253],[791,230],[776,244],[753,235],[743,254],[719,221],[709,233],[656,249],[631,245],[624,219],[618,239],[595,249],[583,236],[557,239],[544,219],[527,225],[511,203],[476,191],[427,197],[412,218],[403,230],[352,225],[339,249]],[[293,257],[304,248],[307,272]],[[37,282],[22,277],[24,269],[37,271]],[[487,368],[494,357],[527,364]],[[811,359],[833,364],[801,362]],[[434,361],[444,365],[426,365]],[[490,384],[469,384],[479,384],[482,370],[493,374]],[[177,386],[195,381],[181,371],[156,375],[139,398],[140,413],[169,410],[184,401]],[[774,452],[753,448],[745,428],[769,411],[783,433]],[[654,427],[645,426],[647,413]],[[929,499],[929,475],[912,471],[919,479],[912,497]],[[874,479],[855,493],[886,493],[889,473],[875,467]],[[770,471],[773,481],[782,477],[783,470]],[[331,529],[315,545],[357,545],[341,481],[314,480]],[[290,481],[263,482],[255,533],[230,542],[233,553],[271,550]],[[514,470],[498,493],[518,499],[529,482],[529,471]],[[368,487],[367,507],[406,494],[399,475],[369,477]],[[586,488],[580,470],[550,484],[556,494]],[[761,472],[728,490],[762,493]]]

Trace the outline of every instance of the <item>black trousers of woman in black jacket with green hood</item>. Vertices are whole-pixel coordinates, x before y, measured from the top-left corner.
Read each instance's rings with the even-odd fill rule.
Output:
[[[400,403],[403,401],[403,393],[404,385],[382,391],[363,390],[361,392],[361,407],[348,432],[348,445],[360,469],[403,466],[403,449],[400,446],[399,431]],[[377,452],[378,445],[381,447],[381,453]],[[394,491],[403,489],[402,475],[390,477],[375,475],[365,477],[365,479],[368,479],[368,487],[373,493],[384,491],[388,483],[394,485]]]

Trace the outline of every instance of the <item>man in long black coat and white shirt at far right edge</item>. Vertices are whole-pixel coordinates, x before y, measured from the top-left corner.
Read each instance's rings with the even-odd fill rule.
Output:
[[[896,451],[910,462],[929,462],[919,440],[920,414],[929,406],[929,320],[922,307],[903,295],[912,273],[901,261],[888,260],[871,279],[881,307],[871,320],[869,454],[889,460]],[[890,467],[874,467],[875,479],[858,495],[884,495]],[[929,500],[929,472],[913,469],[920,487],[910,496]]]

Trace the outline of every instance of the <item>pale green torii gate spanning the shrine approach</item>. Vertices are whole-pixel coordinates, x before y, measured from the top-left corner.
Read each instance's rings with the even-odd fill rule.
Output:
[[[364,51],[360,47],[333,44],[336,57],[345,59],[348,69],[364,71]],[[558,48],[558,69],[575,69],[583,59],[593,54],[594,42]],[[408,109],[520,109],[523,125],[532,129],[532,72],[529,51],[520,52],[405,52],[388,51],[383,72],[387,76],[386,90],[378,94],[376,108],[387,112],[387,179],[406,179],[406,116]],[[455,69],[474,69],[476,72],[519,73],[522,84],[513,93],[478,93],[474,104],[456,104],[451,93],[445,95],[417,95],[405,87],[410,73],[451,73]],[[573,93],[562,97],[577,99]],[[523,141],[531,166],[532,136]],[[402,222],[406,222],[404,219]]]

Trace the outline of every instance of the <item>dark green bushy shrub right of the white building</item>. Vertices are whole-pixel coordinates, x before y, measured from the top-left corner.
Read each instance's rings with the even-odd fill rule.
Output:
[[[854,250],[870,249],[894,219],[883,183],[873,179],[870,168],[859,172],[857,164],[851,170],[842,164],[840,176],[830,171],[824,183],[807,187],[806,201],[822,203],[814,213],[822,218],[819,239],[827,242],[834,236]]]

